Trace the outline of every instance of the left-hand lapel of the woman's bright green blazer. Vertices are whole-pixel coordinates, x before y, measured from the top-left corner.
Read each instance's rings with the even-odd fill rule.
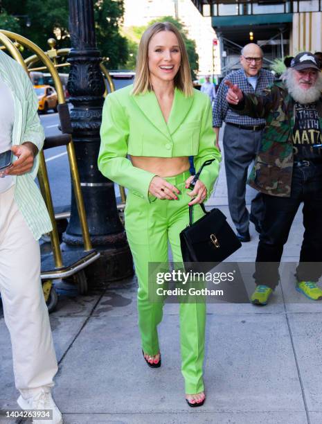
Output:
[[[163,118],[158,100],[154,91],[147,91],[144,94],[138,94],[137,96],[132,96],[136,105],[141,109],[141,112],[145,117],[156,127],[156,130],[159,130],[164,134],[168,139],[171,139],[168,126],[166,121]]]

